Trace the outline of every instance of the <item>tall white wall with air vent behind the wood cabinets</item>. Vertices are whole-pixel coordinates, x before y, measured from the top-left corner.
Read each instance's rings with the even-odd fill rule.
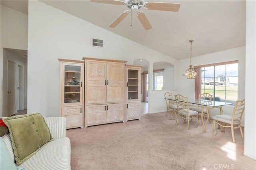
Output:
[[[40,112],[44,117],[59,116],[60,63],[57,58],[82,59],[96,57],[128,60],[145,58],[151,64],[166,61],[176,65],[177,60],[147,48],[80,18],[39,1],[29,1],[28,24],[28,113]],[[104,47],[92,47],[92,38],[104,40]],[[128,50],[133,49],[133,50]],[[136,53],[134,53],[136,51]],[[152,90],[152,77],[150,77]],[[158,112],[163,95],[149,97],[157,100],[149,112]],[[165,103],[160,103],[166,107]]]

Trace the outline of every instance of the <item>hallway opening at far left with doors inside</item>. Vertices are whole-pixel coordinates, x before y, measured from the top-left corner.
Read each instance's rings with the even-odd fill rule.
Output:
[[[3,49],[3,117],[27,112],[27,50]]]

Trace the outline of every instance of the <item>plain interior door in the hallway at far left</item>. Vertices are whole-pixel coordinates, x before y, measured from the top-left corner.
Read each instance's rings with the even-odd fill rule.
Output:
[[[7,64],[7,116],[15,114],[15,72],[16,64],[8,61]]]

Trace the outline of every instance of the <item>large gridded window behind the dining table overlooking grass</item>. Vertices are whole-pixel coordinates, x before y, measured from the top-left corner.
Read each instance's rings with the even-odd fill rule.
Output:
[[[196,67],[201,72],[198,93],[210,93],[212,101],[235,103],[238,100],[238,61]],[[199,87],[197,87],[199,86]],[[198,94],[196,94],[198,96]]]

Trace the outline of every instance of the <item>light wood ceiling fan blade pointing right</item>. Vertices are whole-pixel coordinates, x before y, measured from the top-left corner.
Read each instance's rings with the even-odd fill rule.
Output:
[[[173,12],[178,12],[180,10],[180,4],[176,4],[176,3],[145,2],[143,6],[148,10],[173,11]]]

